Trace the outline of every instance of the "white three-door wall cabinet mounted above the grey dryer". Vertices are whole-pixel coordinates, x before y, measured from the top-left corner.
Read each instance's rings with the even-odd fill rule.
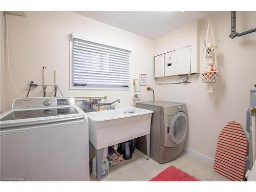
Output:
[[[155,78],[191,73],[191,46],[155,57]]]

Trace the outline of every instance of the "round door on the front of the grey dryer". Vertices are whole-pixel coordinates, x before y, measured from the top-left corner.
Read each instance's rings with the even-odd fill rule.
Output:
[[[186,139],[187,134],[187,116],[184,112],[175,114],[170,122],[169,135],[175,144],[180,144]]]

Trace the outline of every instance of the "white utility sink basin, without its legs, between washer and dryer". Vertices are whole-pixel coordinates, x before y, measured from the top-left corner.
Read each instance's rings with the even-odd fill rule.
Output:
[[[98,150],[150,134],[153,111],[135,107],[86,113],[89,140]]]

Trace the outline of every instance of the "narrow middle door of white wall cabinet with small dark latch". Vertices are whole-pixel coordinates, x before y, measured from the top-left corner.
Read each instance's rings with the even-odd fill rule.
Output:
[[[175,75],[176,54],[175,51],[164,54],[164,76]]]

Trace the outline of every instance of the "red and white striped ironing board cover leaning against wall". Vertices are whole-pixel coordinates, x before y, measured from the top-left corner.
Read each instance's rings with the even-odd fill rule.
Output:
[[[241,124],[229,121],[218,138],[215,171],[233,181],[243,181],[247,155],[248,141]]]

